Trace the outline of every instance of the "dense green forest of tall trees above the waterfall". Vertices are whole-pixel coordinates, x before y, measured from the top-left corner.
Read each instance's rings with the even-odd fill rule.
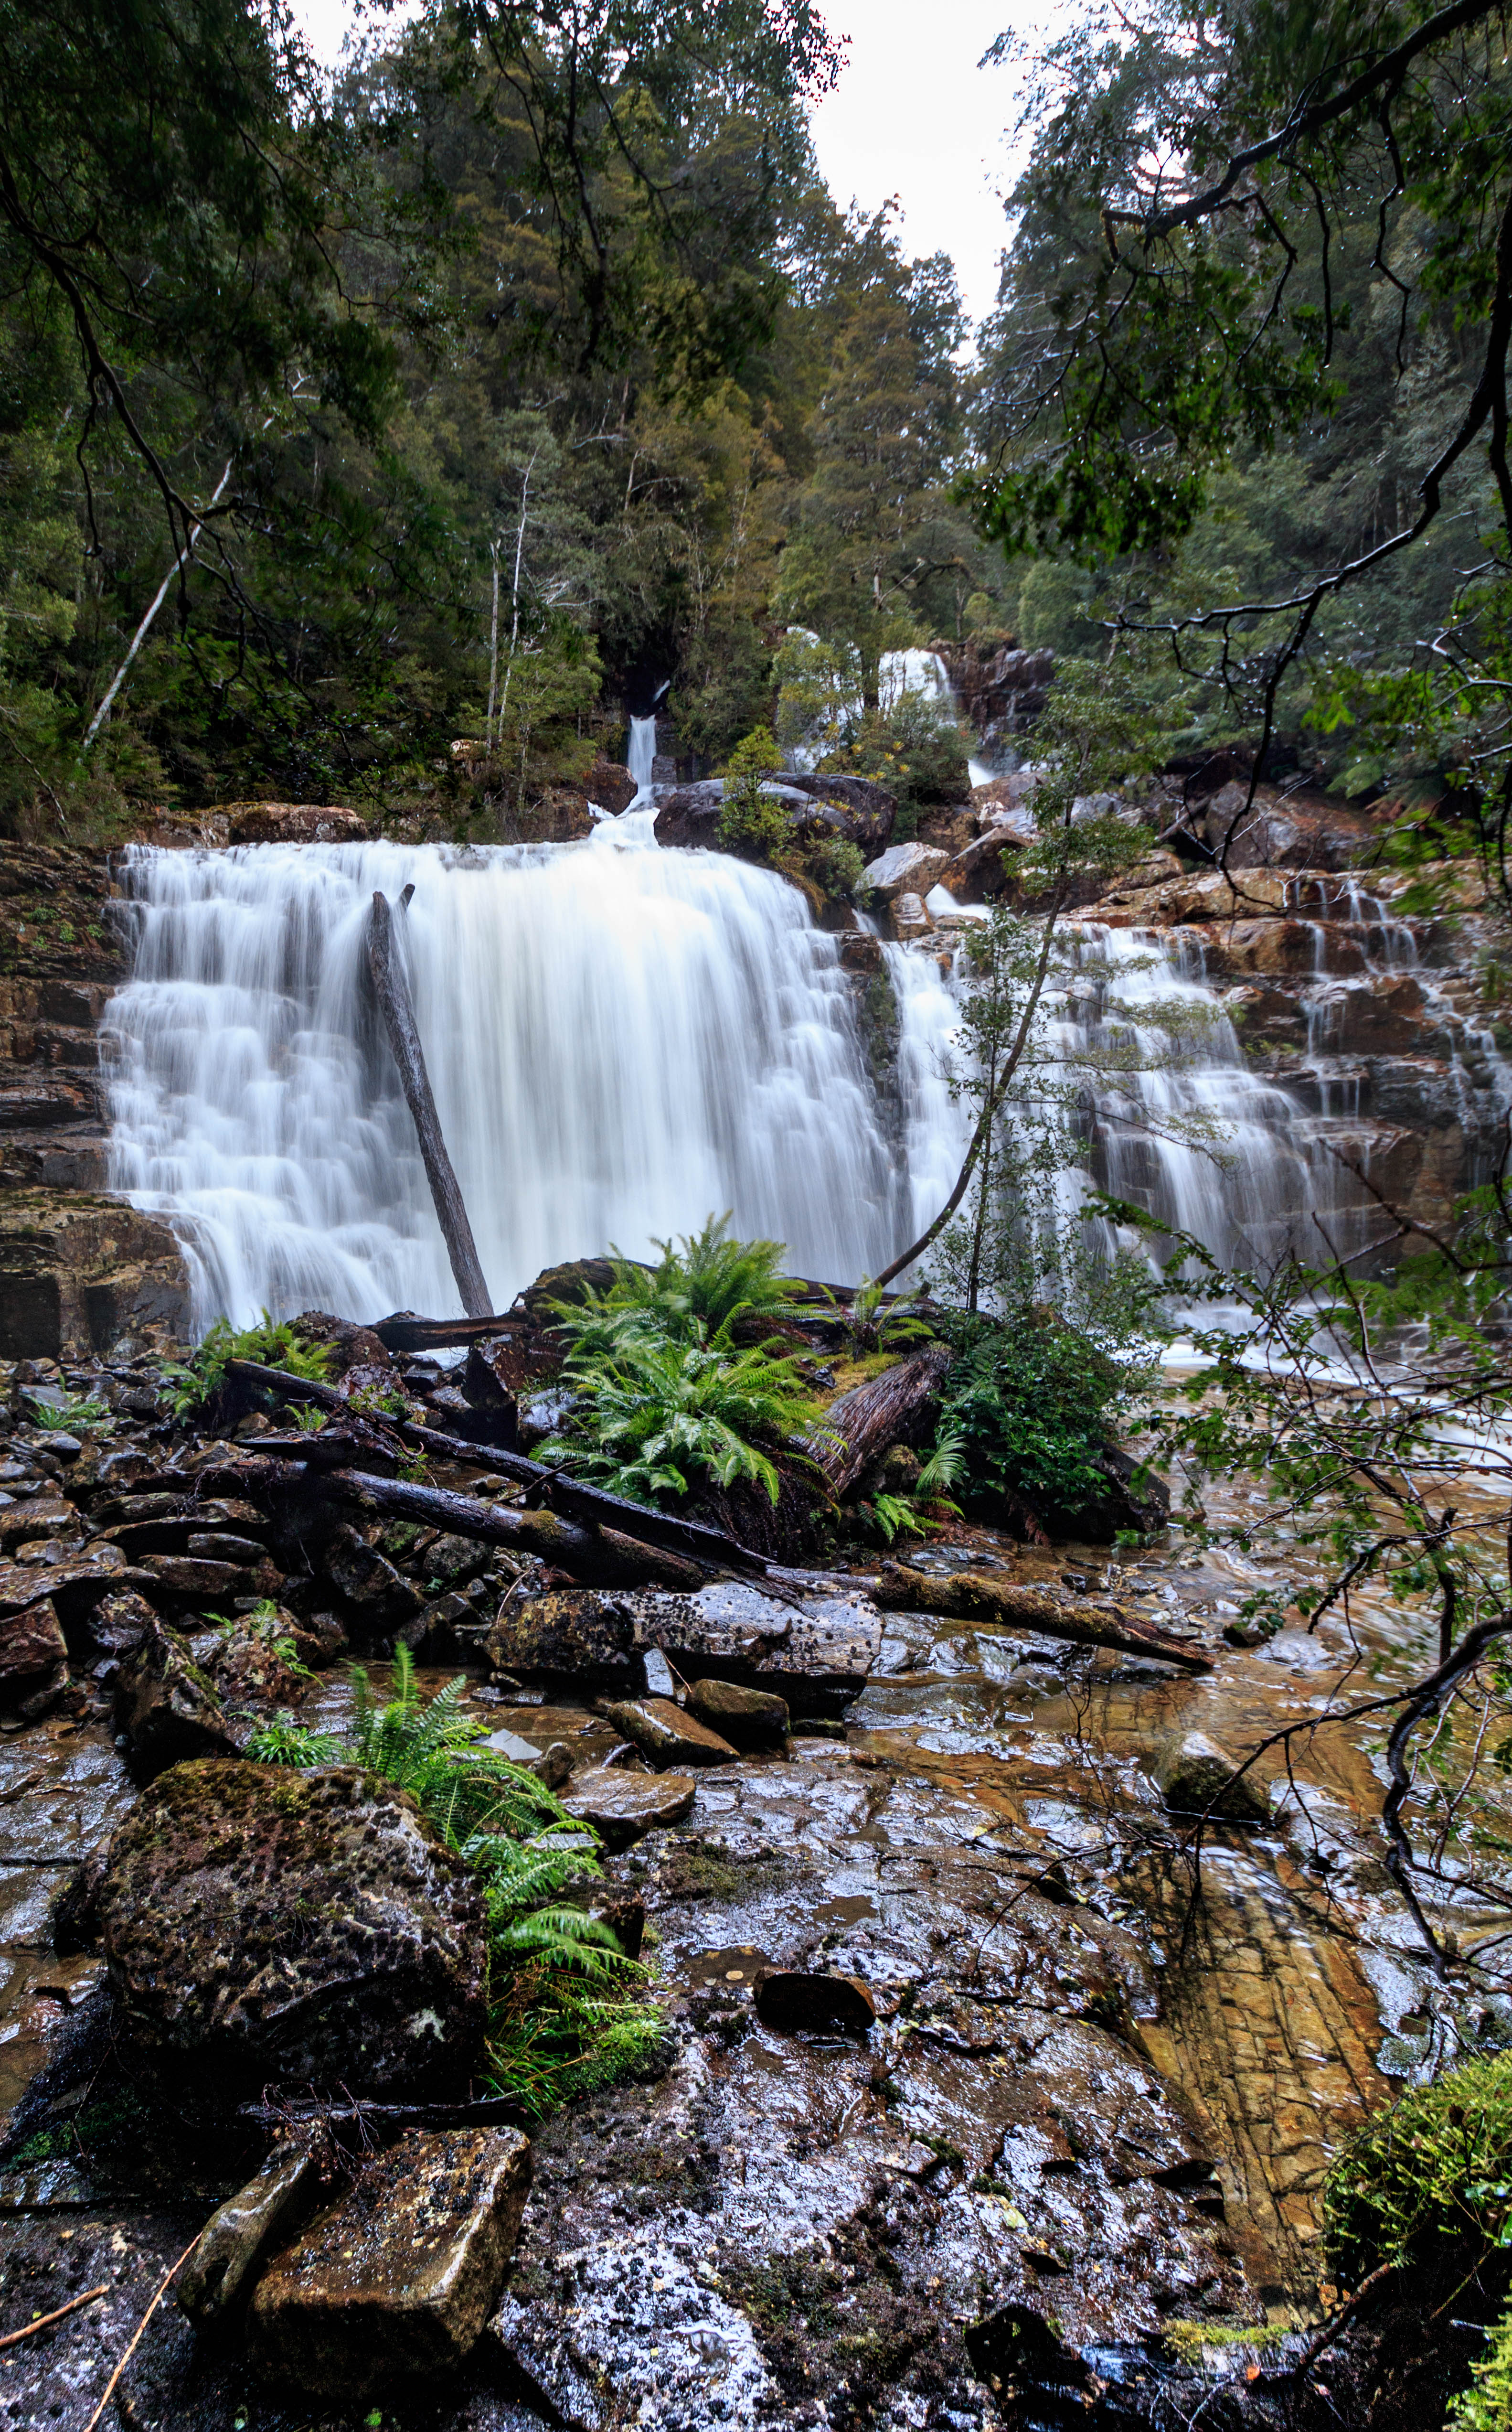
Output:
[[[1376,17],[1437,44],[1400,126],[1364,95],[1155,236],[1305,51],[1286,12],[1089,15],[972,348],[948,258],[817,173],[805,0],[435,5],[335,80],[246,0],[10,12],[0,817],[527,834],[664,686],[695,769],[819,722],[895,771],[941,737],[878,664],[936,640],[1118,662],[1172,751],[1485,790],[1505,472],[1461,450],[1390,535],[1485,384],[1507,71],[1493,12]],[[1318,581],[1296,649],[1228,613]]]

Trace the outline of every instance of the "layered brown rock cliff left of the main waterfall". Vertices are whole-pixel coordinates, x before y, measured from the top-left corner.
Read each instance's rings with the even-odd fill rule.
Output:
[[[0,1359],[177,1333],[180,1248],[105,1192],[100,1014],[126,978],[105,854],[0,844]]]

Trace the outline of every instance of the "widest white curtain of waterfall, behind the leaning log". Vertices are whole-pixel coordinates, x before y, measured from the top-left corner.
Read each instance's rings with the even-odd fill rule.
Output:
[[[649,829],[632,810],[574,846],[129,854],[109,1180],[170,1216],[199,1325],[457,1308],[362,985],[372,893],[411,883],[396,927],[496,1306],[724,1209],[802,1274],[895,1252],[907,1209],[836,939],[778,876]]]

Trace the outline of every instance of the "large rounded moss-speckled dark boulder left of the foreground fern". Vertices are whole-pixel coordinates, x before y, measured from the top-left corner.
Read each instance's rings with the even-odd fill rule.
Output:
[[[421,2092],[481,2062],[476,1882],[355,1766],[163,1773],[109,1841],[97,1921],[124,2031],[175,2082]]]

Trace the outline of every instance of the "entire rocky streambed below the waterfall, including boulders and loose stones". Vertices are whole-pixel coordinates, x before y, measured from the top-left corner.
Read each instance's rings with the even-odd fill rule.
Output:
[[[326,1335],[348,1408],[476,1425],[428,1479],[506,1542],[292,1493],[277,1411],[197,1435],[151,1347],[7,1377],[0,2332],[61,2320],[5,2422],[92,2425],[229,2201],[107,2417],[1322,2425],[1395,2374],[1373,2420],[1437,2420],[1454,2335],[1296,2371],[1320,2194],[1495,2021],[1422,1963],[1364,1727],[1232,1780],[1400,1615],[1235,1644],[1264,1561],[1169,1532],[593,1586],[508,1537],[562,1527],[486,1466],[508,1357]],[[476,1892],[406,1800],[241,1753],[396,1646],[596,1822],[649,1970],[654,2057],[547,2118],[486,2094]]]

